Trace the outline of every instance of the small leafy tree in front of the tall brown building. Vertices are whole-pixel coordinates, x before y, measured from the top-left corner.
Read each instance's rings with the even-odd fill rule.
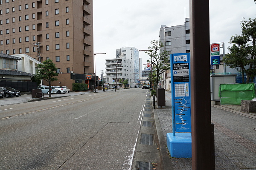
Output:
[[[37,76],[39,79],[44,79],[49,84],[49,97],[52,96],[51,94],[51,82],[58,80],[57,77],[58,73],[57,67],[55,67],[55,64],[52,62],[51,59],[47,59],[42,64],[38,64]]]

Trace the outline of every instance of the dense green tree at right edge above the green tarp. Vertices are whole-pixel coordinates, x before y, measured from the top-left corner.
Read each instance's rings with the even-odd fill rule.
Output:
[[[230,68],[241,68],[242,76],[247,76],[246,82],[253,82],[256,75],[256,17],[241,21],[242,34],[232,36],[230,54],[223,57],[223,62]],[[244,82],[244,79],[243,79]]]

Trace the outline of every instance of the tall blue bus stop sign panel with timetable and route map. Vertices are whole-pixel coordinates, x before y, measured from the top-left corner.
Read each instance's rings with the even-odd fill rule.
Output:
[[[190,54],[170,54],[172,125],[175,132],[191,132]]]

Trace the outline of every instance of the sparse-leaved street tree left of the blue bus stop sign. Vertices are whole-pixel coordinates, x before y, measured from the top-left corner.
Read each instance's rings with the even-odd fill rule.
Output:
[[[155,79],[152,76],[151,80],[154,79],[154,89],[158,87],[158,81],[160,75],[164,73],[166,70],[170,69],[170,65],[168,65],[169,53],[165,50],[160,50],[163,47],[163,43],[158,40],[151,41],[152,46],[148,47],[148,51],[145,51],[146,54],[150,57],[148,62],[151,62],[153,72],[155,71]],[[152,82],[152,81],[151,81]]]

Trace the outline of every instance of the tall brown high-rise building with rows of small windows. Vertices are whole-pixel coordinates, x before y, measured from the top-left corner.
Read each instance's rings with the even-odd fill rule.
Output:
[[[86,82],[70,74],[94,72],[93,0],[0,0],[0,52],[52,59],[53,85]]]

